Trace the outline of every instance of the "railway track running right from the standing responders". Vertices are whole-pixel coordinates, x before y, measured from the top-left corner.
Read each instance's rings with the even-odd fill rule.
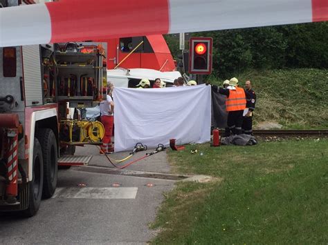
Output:
[[[328,130],[253,130],[255,136],[328,137]]]

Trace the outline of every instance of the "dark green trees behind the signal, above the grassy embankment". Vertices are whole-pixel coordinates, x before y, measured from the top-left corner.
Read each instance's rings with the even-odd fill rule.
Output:
[[[328,22],[193,33],[213,37],[213,75],[237,76],[244,70],[328,68]],[[172,55],[179,36],[167,35]],[[188,40],[186,40],[188,41]]]

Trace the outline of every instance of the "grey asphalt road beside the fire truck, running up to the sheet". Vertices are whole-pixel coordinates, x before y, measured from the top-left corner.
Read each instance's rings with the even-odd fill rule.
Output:
[[[113,175],[98,152],[94,146],[78,148],[75,155],[93,155],[90,166],[60,170],[54,197],[42,201],[35,217],[1,214],[0,244],[145,244],[152,239],[156,231],[148,225],[163,192],[174,188],[175,181]],[[143,155],[137,153],[131,161]],[[127,170],[168,173],[170,168],[161,152]]]

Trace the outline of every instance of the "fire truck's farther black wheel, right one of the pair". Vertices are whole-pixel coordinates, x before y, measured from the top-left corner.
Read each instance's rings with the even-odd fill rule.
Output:
[[[57,141],[53,130],[50,128],[40,128],[37,132],[37,139],[39,139],[41,144],[44,159],[44,188],[42,197],[50,198],[55,193],[57,186]]]

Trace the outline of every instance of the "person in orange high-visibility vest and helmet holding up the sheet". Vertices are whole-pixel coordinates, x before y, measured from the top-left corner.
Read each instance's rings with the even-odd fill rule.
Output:
[[[246,96],[243,88],[238,88],[238,79],[233,77],[229,81],[228,88],[218,88],[212,85],[212,90],[226,95],[226,111],[228,112],[228,132],[225,136],[242,134],[243,112],[246,108]]]

